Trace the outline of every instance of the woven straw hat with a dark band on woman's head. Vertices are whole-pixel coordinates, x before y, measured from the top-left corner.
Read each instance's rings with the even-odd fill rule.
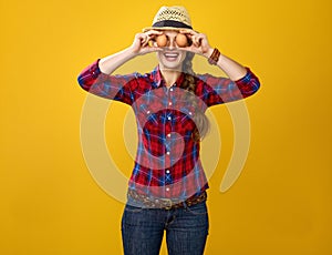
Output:
[[[184,7],[162,7],[154,18],[153,26],[143,29],[148,30],[183,30],[193,29],[188,11]]]

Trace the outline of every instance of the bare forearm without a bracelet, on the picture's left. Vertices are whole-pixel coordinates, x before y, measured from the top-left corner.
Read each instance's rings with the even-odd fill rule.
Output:
[[[105,74],[113,73],[117,68],[123,65],[128,60],[135,58],[137,54],[134,52],[132,47],[124,49],[112,55],[107,55],[100,60],[100,70]]]

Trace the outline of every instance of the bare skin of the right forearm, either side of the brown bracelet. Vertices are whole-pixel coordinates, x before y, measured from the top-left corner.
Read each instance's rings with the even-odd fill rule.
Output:
[[[208,59],[214,52],[214,49],[210,48],[204,55]],[[247,70],[243,65],[236,62],[235,60],[224,55],[222,53],[219,57],[217,65],[229,76],[230,80],[237,81],[243,78],[247,73]]]

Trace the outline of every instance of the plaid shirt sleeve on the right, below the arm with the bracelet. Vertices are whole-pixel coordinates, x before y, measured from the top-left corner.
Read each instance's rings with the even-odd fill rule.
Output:
[[[205,86],[200,92],[201,100],[207,106],[211,106],[246,99],[255,94],[260,88],[260,82],[249,68],[246,68],[246,75],[237,81],[228,78],[216,78],[210,74],[199,76]]]

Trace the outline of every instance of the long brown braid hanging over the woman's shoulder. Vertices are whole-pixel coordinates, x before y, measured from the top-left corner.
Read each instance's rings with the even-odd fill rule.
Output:
[[[190,93],[187,93],[186,100],[195,109],[195,114],[193,116],[193,120],[196,124],[196,129],[194,130],[193,139],[195,141],[199,141],[208,133],[210,123],[209,123],[209,120],[207,119],[206,114],[204,113],[204,110],[199,106],[198,98],[195,94],[197,78],[195,76],[195,73],[193,71],[194,55],[195,55],[194,53],[187,52],[186,58],[183,62],[183,72],[185,74],[185,79],[184,79],[184,82],[180,85],[180,88],[190,92]]]

